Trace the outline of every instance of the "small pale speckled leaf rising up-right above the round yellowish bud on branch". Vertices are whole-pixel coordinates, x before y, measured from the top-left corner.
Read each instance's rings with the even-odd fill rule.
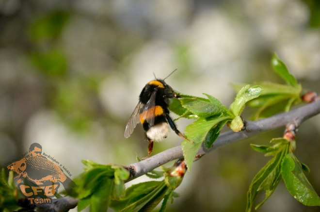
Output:
[[[252,86],[245,85],[237,94],[234,102],[230,105],[230,111],[238,116],[244,109],[244,105],[251,99],[257,98],[262,92],[261,86]]]

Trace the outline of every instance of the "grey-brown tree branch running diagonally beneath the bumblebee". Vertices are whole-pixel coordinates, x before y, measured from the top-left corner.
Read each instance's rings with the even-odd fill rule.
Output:
[[[228,131],[222,133],[219,138],[213,143],[213,146],[209,149],[202,146],[198,152],[199,156],[202,156],[218,147],[222,147],[226,144],[239,141],[250,136],[253,136],[259,132],[276,129],[279,127],[284,127],[288,123],[295,123],[298,127],[303,121],[311,118],[320,113],[320,100],[304,105],[300,108],[292,110],[288,113],[277,114],[269,118],[265,118],[258,121],[245,121],[245,129],[240,132]],[[183,158],[183,152],[181,146],[173,147],[167,149],[159,154],[156,154],[144,161],[137,163],[131,163],[128,167],[130,170],[130,178],[127,180],[138,178],[153,169],[168,163],[170,161]],[[67,211],[71,208],[76,207],[78,204],[78,199],[64,196],[62,198],[56,199],[54,204],[46,206],[36,206],[40,211],[47,211],[51,209],[52,211]]]

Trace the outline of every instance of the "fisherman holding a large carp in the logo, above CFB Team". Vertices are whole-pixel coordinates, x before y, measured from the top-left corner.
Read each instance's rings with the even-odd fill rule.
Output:
[[[20,183],[22,179],[27,179],[32,184],[47,186],[59,181],[69,193],[76,184],[64,174],[58,164],[48,160],[41,153],[41,145],[33,143],[29,148],[29,155],[8,165],[7,168],[18,174],[17,183]]]

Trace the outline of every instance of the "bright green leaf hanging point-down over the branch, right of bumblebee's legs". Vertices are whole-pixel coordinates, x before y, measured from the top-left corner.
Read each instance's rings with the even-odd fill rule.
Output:
[[[192,124],[188,125],[185,129],[185,135],[190,141],[184,140],[181,144],[183,149],[184,159],[187,163],[188,170],[190,172],[194,157],[196,156],[202,142],[207,137],[207,134],[211,128],[215,127],[219,122],[230,119],[227,116],[214,116],[210,118],[199,118]]]

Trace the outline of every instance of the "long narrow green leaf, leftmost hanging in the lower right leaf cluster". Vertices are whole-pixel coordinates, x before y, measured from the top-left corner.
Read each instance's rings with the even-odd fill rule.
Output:
[[[283,148],[283,151],[279,152],[262,169],[260,169],[252,180],[247,194],[247,212],[251,211],[253,202],[260,191],[265,190],[266,194],[264,200],[256,206],[256,209],[272,195],[274,189],[279,183],[281,175],[281,161],[287,151],[288,145],[287,148]]]

